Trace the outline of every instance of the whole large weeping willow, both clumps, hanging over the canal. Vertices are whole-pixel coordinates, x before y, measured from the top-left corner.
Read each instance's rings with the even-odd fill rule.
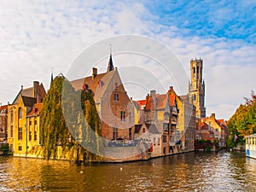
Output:
[[[93,156],[84,148],[85,142],[93,143],[94,149],[100,151],[99,136],[102,133],[93,97],[88,92],[75,92],[63,76],[56,77],[51,83],[44,98],[40,122],[40,141],[48,160],[57,156],[57,146],[62,149],[76,146],[84,160]],[[89,128],[96,137],[90,138]]]

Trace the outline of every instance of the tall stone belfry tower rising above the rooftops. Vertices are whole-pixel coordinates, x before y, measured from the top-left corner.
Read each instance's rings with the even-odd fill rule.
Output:
[[[205,108],[205,81],[202,80],[203,61],[195,59],[190,61],[191,83],[189,84],[189,102],[195,106],[196,118],[206,117]]]

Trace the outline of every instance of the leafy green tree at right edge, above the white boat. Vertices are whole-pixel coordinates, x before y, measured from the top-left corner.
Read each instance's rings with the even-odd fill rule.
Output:
[[[227,144],[230,148],[236,147],[238,143],[244,144],[244,137],[256,133],[256,96],[253,91],[251,99],[245,98],[245,100],[246,103],[241,104],[229,120],[230,136]]]

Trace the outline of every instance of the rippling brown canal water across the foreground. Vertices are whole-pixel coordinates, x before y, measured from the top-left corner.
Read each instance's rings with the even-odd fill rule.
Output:
[[[256,191],[256,160],[221,151],[76,166],[0,156],[0,191]]]

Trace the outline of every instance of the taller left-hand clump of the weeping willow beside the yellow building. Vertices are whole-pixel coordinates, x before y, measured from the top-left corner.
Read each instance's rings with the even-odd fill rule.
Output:
[[[68,130],[61,108],[61,90],[65,78],[56,77],[50,84],[47,95],[44,97],[44,106],[40,115],[40,141],[44,145],[44,156],[49,160],[56,156],[56,145],[67,142]],[[67,93],[73,92],[69,84]]]

